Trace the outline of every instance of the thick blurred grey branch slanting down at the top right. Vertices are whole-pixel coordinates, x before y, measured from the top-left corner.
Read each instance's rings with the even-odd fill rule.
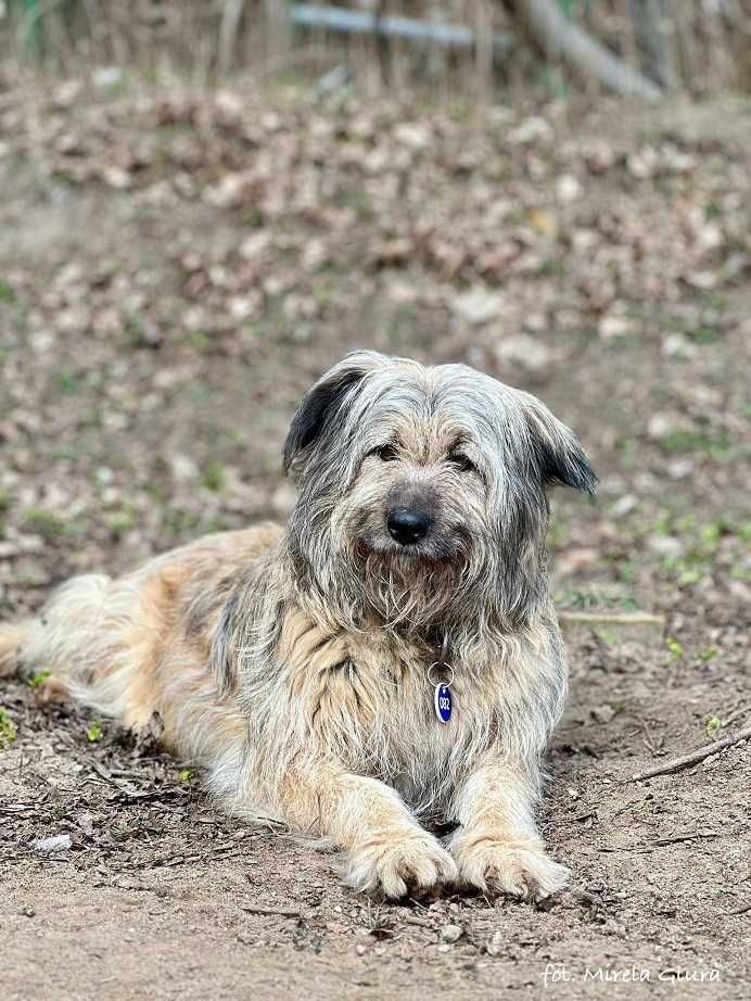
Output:
[[[556,0],[513,0],[512,8],[522,27],[548,59],[562,60],[616,93],[645,101],[659,101],[662,97],[661,89],[651,80],[569,21]]]

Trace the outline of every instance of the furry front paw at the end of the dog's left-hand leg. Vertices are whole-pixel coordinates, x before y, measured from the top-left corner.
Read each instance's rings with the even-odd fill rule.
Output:
[[[391,900],[425,894],[457,878],[454,859],[429,834],[384,835],[349,854],[346,882]]]

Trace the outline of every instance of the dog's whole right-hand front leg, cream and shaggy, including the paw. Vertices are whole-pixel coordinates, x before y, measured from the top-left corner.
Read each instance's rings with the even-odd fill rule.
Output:
[[[485,759],[455,800],[460,827],[449,848],[464,883],[491,894],[542,899],[565,886],[569,871],[547,854],[535,824],[538,776]]]

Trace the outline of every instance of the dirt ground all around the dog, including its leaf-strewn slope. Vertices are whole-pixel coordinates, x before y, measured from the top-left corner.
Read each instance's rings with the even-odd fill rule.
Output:
[[[751,722],[748,107],[0,98],[2,619],[283,518],[295,401],[365,345],[549,403],[602,480],[553,498],[561,608],[666,622],[570,643],[574,882],[540,907],[365,900],[150,735],[3,683],[3,997],[751,997],[750,746],[631,777]]]

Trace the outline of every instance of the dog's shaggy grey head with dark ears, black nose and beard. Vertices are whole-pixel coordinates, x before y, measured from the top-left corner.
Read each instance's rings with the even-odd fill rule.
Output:
[[[547,587],[546,490],[597,484],[536,397],[463,365],[374,352],[307,393],[284,467],[301,487],[298,586],[352,624],[523,621]]]

